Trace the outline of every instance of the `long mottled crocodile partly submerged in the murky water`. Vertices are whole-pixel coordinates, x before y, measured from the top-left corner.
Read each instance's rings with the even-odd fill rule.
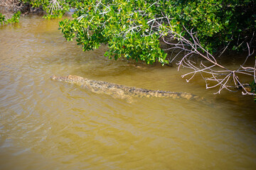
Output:
[[[83,77],[78,77],[73,75],[69,75],[67,77],[56,77],[54,75],[50,77],[50,79],[57,80],[57,81],[64,81],[70,84],[77,84],[84,89],[89,89],[92,92],[95,92],[98,94],[109,94],[116,98],[129,99],[131,97],[161,97],[161,98],[186,98],[188,100],[194,99],[196,101],[204,101],[204,99],[199,96],[183,93],[183,92],[141,89],[136,87],[113,84],[106,81],[85,79]]]

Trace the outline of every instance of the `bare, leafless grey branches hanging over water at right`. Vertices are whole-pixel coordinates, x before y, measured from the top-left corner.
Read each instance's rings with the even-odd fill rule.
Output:
[[[188,77],[186,81],[191,81],[191,79],[193,79],[193,77],[197,73],[200,73],[203,79],[206,80],[206,89],[213,89],[219,87],[218,91],[215,94],[220,94],[220,91],[222,91],[223,89],[226,89],[228,91],[242,89],[242,94],[248,94],[253,96],[256,95],[247,88],[245,88],[247,84],[243,84],[242,81],[240,81],[238,75],[244,74],[247,76],[252,76],[254,81],[256,80],[256,60],[254,67],[245,67],[247,60],[249,59],[249,57],[252,57],[255,52],[255,50],[250,49],[250,45],[248,44],[248,42],[248,55],[247,57],[245,57],[245,61],[240,65],[238,69],[228,69],[227,67],[218,63],[216,58],[211,55],[210,52],[203,48],[198,38],[196,37],[196,33],[193,33],[193,29],[187,30],[185,27],[183,27],[188,35],[190,35],[190,38],[192,40],[190,41],[188,40],[188,38],[183,37],[181,33],[178,34],[173,31],[170,19],[167,16],[166,20],[169,25],[161,27],[169,30],[169,32],[167,36],[161,35],[161,38],[166,44],[171,45],[171,47],[166,50],[178,50],[178,53],[176,53],[176,55],[174,55],[174,57],[172,57],[169,61],[174,62],[174,60],[177,60],[178,57],[180,57],[181,59],[179,59],[176,63],[178,65],[178,69],[180,69],[181,67],[193,69],[192,72],[183,74],[181,77]],[[161,25],[161,23],[158,24],[159,26]],[[174,40],[176,40],[176,42],[174,42]],[[223,52],[227,48],[228,47],[224,47]],[[184,55],[181,57],[182,52],[184,53]],[[222,55],[223,52],[220,52],[220,55]],[[198,62],[193,62],[193,57],[197,57],[200,62],[199,65]],[[209,84],[208,81],[210,81],[211,83]],[[213,84],[213,82],[216,82],[216,84]]]

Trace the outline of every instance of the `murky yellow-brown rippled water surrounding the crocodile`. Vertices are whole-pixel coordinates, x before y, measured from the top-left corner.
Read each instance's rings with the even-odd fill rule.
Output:
[[[82,52],[58,20],[22,18],[0,28],[0,169],[255,169],[256,116],[249,96],[214,96],[201,79]],[[51,81],[75,74],[145,89],[185,91],[127,103]]]

